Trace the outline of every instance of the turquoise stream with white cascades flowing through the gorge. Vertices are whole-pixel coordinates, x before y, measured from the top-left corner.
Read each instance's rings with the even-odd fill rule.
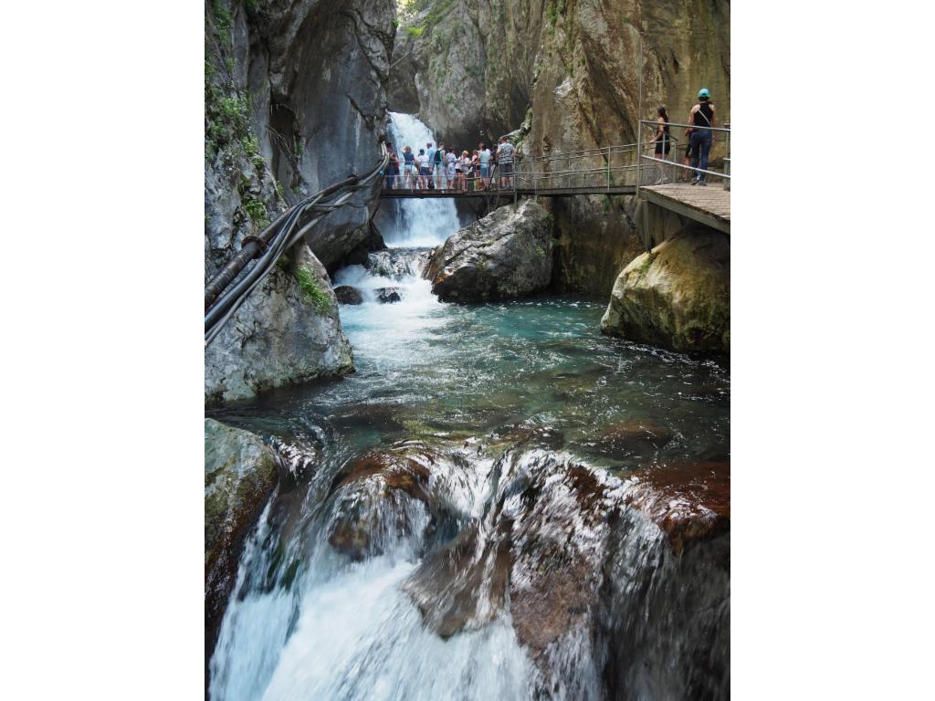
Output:
[[[434,143],[393,123],[397,148]],[[583,299],[439,303],[419,273],[454,206],[400,209],[390,250],[338,272],[365,298],[340,310],[356,372],[213,414],[266,436],[287,477],[210,697],[726,694],[726,537],[680,554],[629,506],[634,475],[729,460],[726,366],[601,336]]]

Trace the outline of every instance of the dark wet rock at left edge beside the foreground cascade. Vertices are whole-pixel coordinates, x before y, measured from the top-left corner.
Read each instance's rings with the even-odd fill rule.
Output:
[[[237,562],[278,468],[259,436],[205,419],[205,630],[213,637],[237,578]],[[213,643],[209,643],[209,649]]]

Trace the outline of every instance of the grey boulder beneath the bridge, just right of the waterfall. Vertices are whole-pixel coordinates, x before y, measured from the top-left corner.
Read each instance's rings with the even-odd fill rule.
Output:
[[[425,277],[443,302],[518,299],[552,279],[552,217],[532,199],[499,207],[432,253]]]

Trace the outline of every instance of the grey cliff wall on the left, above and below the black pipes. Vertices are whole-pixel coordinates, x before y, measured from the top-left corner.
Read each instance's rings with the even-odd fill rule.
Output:
[[[206,280],[286,207],[379,163],[395,14],[393,0],[205,3]],[[325,267],[380,247],[379,186],[309,232],[228,322],[206,351],[209,402],[352,369]]]

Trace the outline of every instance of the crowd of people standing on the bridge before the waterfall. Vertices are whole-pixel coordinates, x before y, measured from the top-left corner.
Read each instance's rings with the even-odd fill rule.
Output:
[[[404,146],[397,153],[386,144],[390,162],[384,173],[383,187],[395,190],[456,190],[462,193],[487,190],[499,184],[512,187],[515,148],[506,136],[500,136],[496,150],[483,142],[473,153],[460,152],[439,142],[438,148],[426,143],[418,153]],[[497,178],[498,176],[498,178]]]

